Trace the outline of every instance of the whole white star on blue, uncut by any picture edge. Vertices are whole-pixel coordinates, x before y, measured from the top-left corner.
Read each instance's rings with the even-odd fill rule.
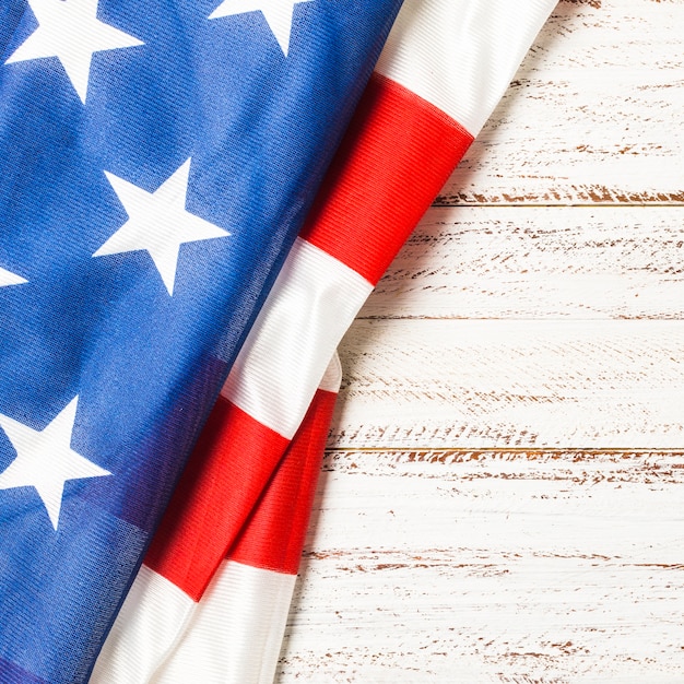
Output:
[[[182,243],[227,237],[227,231],[186,211],[190,160],[154,192],[105,172],[128,221],[93,255],[118,255],[123,251],[150,252],[169,295],[174,294],[178,251]]]

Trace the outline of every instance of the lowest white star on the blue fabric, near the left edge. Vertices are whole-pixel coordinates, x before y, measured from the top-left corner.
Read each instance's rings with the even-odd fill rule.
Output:
[[[43,429],[33,429],[0,414],[0,427],[16,449],[16,458],[0,473],[0,490],[35,487],[55,530],[64,482],[111,474],[71,449],[78,403],[79,398],[74,397]]]

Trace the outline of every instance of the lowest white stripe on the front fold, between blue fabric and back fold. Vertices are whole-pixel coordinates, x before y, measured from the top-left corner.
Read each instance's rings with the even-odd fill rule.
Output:
[[[196,605],[176,585],[143,565],[99,653],[91,684],[149,682]]]

